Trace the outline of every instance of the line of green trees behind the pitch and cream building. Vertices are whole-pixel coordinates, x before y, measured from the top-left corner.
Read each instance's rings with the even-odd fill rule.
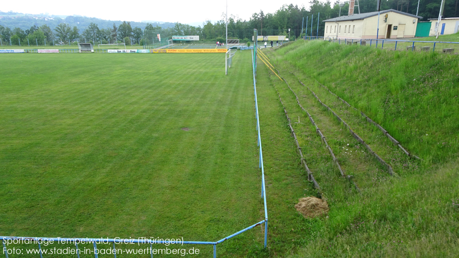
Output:
[[[457,17],[459,10],[457,2],[459,0],[446,0],[443,17]],[[438,3],[437,3],[438,2]],[[285,35],[290,39],[300,36],[321,36],[324,35],[324,19],[338,17],[339,15],[348,15],[349,3],[337,1],[333,5],[330,0],[319,2],[312,0],[309,2],[309,10],[304,6],[283,5],[274,13],[260,12],[251,15],[249,20],[242,20],[238,16],[231,15],[228,17],[228,38],[238,38],[243,41],[251,40],[253,29],[258,29],[258,35]],[[382,1],[381,10],[394,9],[410,14],[422,16],[422,20],[428,18],[437,18],[440,11],[441,0],[387,0]],[[360,13],[376,11],[376,0],[360,0]],[[358,13],[355,8],[354,13]],[[176,22],[173,27],[159,26],[159,24],[147,23],[145,28],[131,27],[130,21],[123,21],[117,27],[113,22],[111,27],[99,28],[91,22],[84,30],[79,30],[77,26],[71,26],[67,22],[61,22],[54,29],[48,25],[33,25],[30,29],[22,30],[20,28],[9,28],[0,25],[0,38],[12,44],[37,43],[58,41],[58,43],[69,42],[93,42],[93,43],[126,43],[142,44],[145,32],[148,35],[161,34],[166,39],[172,35],[198,35],[201,40],[224,41],[225,38],[225,21],[226,17],[222,14],[219,21],[211,22],[206,20],[202,26],[190,26]],[[303,30],[302,30],[303,28]],[[289,30],[290,29],[290,30]],[[290,31],[290,33],[289,33]],[[32,42],[31,42],[32,41]]]

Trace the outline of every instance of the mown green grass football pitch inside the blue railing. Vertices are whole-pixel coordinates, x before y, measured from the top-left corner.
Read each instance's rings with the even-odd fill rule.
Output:
[[[263,220],[250,58],[225,76],[223,54],[2,55],[0,235],[217,241]]]

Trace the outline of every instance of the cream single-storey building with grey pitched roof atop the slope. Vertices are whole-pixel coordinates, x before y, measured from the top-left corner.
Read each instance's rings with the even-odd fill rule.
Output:
[[[349,13],[352,13],[350,10]],[[414,38],[421,16],[389,9],[326,19],[324,37],[331,38]]]

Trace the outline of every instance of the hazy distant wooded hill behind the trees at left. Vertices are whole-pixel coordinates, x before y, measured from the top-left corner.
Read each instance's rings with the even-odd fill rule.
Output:
[[[113,24],[117,27],[123,22],[122,20],[103,20],[94,17],[86,17],[81,15],[50,15],[50,14],[24,14],[15,12],[2,12],[0,11],[0,25],[14,29],[15,27],[21,30],[30,29],[30,27],[36,25],[41,26],[43,24],[48,25],[51,29],[56,28],[61,22],[65,22],[71,27],[76,26],[80,33],[86,29],[91,22],[97,24],[99,29],[113,28]],[[173,22],[136,22],[131,21],[131,27],[139,27],[142,30],[145,29],[147,23],[153,25],[153,27],[159,26],[163,29],[171,28],[175,26]]]

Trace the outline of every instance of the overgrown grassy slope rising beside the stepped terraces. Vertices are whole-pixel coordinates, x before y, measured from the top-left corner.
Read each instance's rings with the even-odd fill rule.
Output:
[[[304,249],[297,256],[455,256],[457,58],[304,41],[269,56],[325,84],[424,159],[415,171],[361,195],[336,198],[328,218],[304,219],[301,226],[310,230],[300,237]]]

